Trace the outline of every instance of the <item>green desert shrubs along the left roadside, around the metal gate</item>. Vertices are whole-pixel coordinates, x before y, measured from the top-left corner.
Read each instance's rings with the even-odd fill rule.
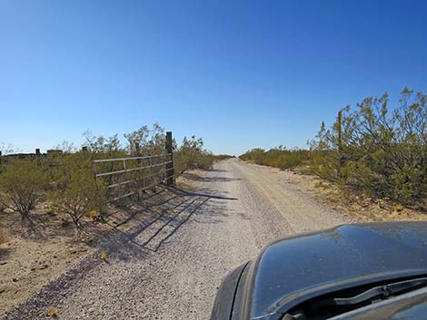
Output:
[[[84,138],[86,150],[77,150],[65,141],[55,147],[63,152],[0,161],[0,211],[18,212],[25,222],[37,203],[44,201],[48,210],[65,214],[80,227],[82,218],[91,212],[92,218],[97,217],[105,208],[107,189],[94,179],[93,160],[165,153],[164,128],[157,123],[151,129],[143,126],[124,134],[124,145],[117,134],[105,138],[86,131]],[[173,144],[175,176],[185,170],[211,169],[214,160],[225,157],[205,150],[202,139],[194,136]],[[114,162],[102,165],[108,166],[107,171],[119,170]]]

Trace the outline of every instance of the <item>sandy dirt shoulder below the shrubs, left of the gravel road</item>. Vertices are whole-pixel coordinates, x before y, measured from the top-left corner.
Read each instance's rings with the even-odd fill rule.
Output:
[[[176,182],[182,189],[194,186],[182,177]],[[161,196],[156,201],[159,199]],[[32,212],[31,226],[23,226],[15,212],[0,211],[0,317],[96,250],[114,255],[114,248],[104,247],[106,239],[133,228],[138,221],[160,210],[161,206],[150,213],[138,205],[110,208],[106,223],[87,218],[81,233],[76,232],[69,218],[46,213],[43,205]],[[101,254],[98,256],[101,258]]]

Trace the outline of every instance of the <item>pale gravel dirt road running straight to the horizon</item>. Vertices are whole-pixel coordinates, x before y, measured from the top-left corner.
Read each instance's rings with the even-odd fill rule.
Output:
[[[187,175],[196,191],[172,192],[166,215],[142,221],[127,238],[131,255],[89,258],[71,284],[63,279],[7,318],[45,318],[52,304],[59,319],[208,319],[223,276],[266,244],[348,222],[290,183],[291,174],[232,159]]]

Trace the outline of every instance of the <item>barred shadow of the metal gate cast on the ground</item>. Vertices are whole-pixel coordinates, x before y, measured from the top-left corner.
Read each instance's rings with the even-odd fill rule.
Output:
[[[214,202],[209,202],[211,199]],[[227,216],[221,202],[233,200],[180,188],[161,189],[117,208],[105,218],[109,228],[98,230],[96,242],[120,260],[144,257],[148,251],[163,247],[194,215],[209,215],[209,223],[219,223]]]

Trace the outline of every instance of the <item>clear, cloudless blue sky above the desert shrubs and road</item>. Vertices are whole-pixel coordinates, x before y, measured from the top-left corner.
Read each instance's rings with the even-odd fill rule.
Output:
[[[158,121],[214,152],[305,146],[344,105],[427,89],[427,1],[0,0],[0,141]]]

